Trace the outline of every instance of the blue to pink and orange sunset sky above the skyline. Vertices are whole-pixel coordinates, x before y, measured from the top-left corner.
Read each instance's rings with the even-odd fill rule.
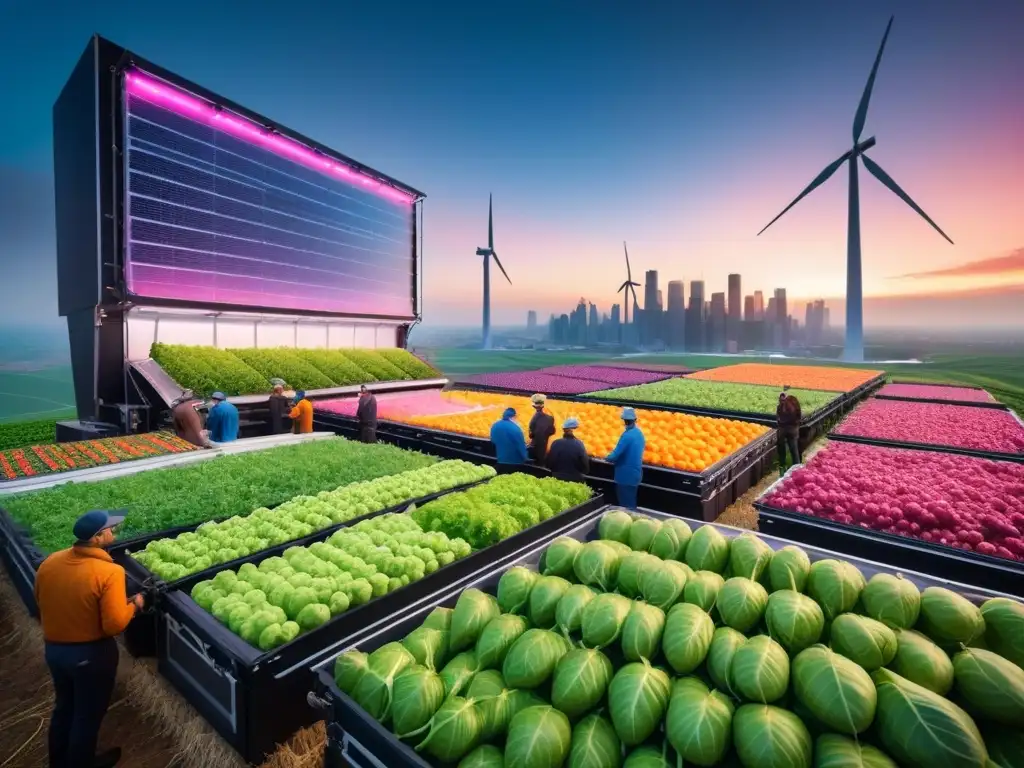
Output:
[[[639,283],[841,297],[845,170],[755,236],[849,148],[891,13],[869,154],[955,245],[861,169],[865,325],[1024,327],[1020,0],[6,0],[0,322],[55,317],[50,110],[92,32],[426,191],[430,324],[479,319],[488,193],[498,324],[606,310],[624,240]]]

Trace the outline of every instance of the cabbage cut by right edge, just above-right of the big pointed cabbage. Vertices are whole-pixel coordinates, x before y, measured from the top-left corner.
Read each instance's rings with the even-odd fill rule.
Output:
[[[965,648],[953,656],[953,676],[969,711],[1024,729],[1024,670],[990,650]]]

